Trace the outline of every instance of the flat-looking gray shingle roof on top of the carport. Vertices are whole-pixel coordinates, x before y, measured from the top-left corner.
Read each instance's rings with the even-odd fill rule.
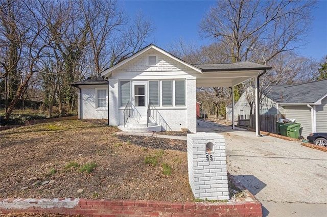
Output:
[[[225,64],[195,64],[194,66],[202,69],[202,72],[271,69],[270,66],[265,66],[258,63],[251,63],[251,62],[225,63]]]

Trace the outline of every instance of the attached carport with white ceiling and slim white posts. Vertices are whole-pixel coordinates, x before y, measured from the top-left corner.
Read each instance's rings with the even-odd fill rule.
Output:
[[[245,82],[250,78],[255,79],[255,132],[260,136],[260,115],[259,115],[259,87],[260,77],[271,69],[270,66],[251,62],[230,63],[230,64],[198,64],[194,65],[201,69],[197,75],[196,87],[226,87],[234,92],[234,86]],[[234,96],[232,96],[232,128],[235,129],[234,120]]]

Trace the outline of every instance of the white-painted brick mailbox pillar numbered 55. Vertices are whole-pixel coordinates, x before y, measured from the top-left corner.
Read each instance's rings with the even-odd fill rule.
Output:
[[[229,200],[223,135],[214,132],[188,134],[188,167],[195,198]]]

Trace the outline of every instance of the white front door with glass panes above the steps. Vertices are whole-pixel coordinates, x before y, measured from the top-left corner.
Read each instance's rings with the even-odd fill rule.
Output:
[[[132,115],[146,116],[148,108],[147,82],[132,82]]]

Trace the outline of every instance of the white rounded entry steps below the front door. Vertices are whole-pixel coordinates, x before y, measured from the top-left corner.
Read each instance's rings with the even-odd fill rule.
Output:
[[[127,123],[124,125],[119,125],[118,129],[125,132],[160,132],[161,125],[150,118],[149,123],[147,124],[146,116],[131,116],[128,118]]]

